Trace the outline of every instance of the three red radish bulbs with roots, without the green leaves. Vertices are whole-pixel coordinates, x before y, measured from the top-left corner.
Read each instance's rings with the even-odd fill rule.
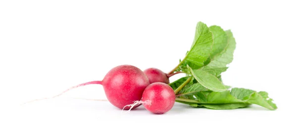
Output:
[[[144,104],[148,111],[163,114],[169,111],[175,102],[175,93],[167,85],[169,77],[155,68],[149,68],[143,72],[132,65],[120,65],[108,71],[102,81],[79,84],[53,97],[81,86],[99,84],[103,86],[107,100],[115,107],[130,111]]]

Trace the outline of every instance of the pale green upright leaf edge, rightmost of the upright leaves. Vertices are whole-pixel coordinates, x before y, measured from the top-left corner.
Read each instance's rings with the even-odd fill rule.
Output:
[[[213,55],[209,63],[201,68],[202,70],[212,71],[212,74],[216,76],[227,70],[226,66],[233,60],[236,42],[230,30],[226,31],[226,34],[228,36],[227,46],[221,52]]]

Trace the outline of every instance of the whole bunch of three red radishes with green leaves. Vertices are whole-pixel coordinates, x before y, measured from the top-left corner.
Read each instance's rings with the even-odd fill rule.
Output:
[[[210,109],[236,109],[250,104],[277,109],[265,91],[224,85],[221,73],[232,62],[235,47],[230,30],[198,22],[190,50],[169,73],[157,68],[142,71],[132,65],[120,65],[112,68],[102,81],[83,83],[66,91],[90,84],[102,85],[108,101],[127,112],[144,105],[154,114],[163,114],[174,102]],[[169,78],[179,73],[186,76],[170,83]]]

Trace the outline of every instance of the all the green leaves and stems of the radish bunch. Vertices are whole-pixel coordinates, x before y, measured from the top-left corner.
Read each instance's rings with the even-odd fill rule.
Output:
[[[193,107],[235,109],[257,104],[277,109],[268,93],[232,88],[222,82],[221,73],[233,60],[236,41],[230,30],[207,27],[198,22],[194,42],[183,60],[168,73],[186,73],[169,85],[175,90],[176,101]]]

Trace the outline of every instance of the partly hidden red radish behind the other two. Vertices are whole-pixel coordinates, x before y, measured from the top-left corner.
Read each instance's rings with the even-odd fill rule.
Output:
[[[148,76],[148,80],[149,80],[150,84],[155,83],[155,82],[162,82],[165,84],[169,84],[169,78],[171,76],[181,73],[181,72],[166,74],[157,68],[148,68],[148,69],[144,70],[144,73]]]

